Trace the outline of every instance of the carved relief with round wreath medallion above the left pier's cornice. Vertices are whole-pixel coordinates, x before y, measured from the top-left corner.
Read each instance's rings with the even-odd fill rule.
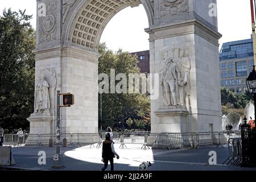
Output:
[[[56,40],[56,3],[46,5],[46,16],[40,17],[40,43]]]

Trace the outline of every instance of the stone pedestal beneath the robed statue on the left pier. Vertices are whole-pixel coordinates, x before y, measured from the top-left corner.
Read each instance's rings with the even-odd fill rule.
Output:
[[[30,134],[51,134],[53,117],[51,113],[33,113],[27,120],[30,122]]]

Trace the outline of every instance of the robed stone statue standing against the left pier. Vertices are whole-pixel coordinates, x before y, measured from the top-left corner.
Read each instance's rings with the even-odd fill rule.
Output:
[[[49,113],[49,85],[45,75],[40,75],[35,88],[35,113]]]

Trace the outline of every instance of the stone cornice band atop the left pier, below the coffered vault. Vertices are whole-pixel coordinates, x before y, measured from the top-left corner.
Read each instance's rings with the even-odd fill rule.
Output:
[[[33,51],[36,56],[36,61],[44,59],[52,59],[54,57],[73,57],[75,59],[89,61],[98,64],[100,53],[88,51],[74,46],[58,46],[46,49],[35,49]]]

